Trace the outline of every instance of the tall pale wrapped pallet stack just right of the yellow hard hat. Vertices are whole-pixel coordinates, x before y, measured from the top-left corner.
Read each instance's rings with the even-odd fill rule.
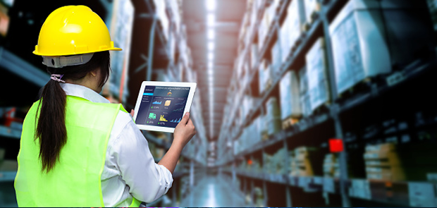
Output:
[[[133,4],[127,0],[113,2],[111,18],[111,37],[123,51],[111,51],[111,77],[109,78],[109,92],[125,102],[129,95],[128,71],[130,57],[130,40],[133,30]]]

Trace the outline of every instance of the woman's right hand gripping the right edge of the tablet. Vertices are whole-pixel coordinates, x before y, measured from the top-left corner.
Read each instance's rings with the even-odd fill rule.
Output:
[[[195,126],[192,124],[190,113],[187,112],[175,128],[175,132],[173,133],[173,144],[185,147],[195,134]]]

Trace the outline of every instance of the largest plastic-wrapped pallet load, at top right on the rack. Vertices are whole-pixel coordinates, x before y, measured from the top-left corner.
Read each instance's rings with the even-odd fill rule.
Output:
[[[349,1],[329,27],[337,93],[429,53],[432,26],[417,15],[424,12],[415,1]]]

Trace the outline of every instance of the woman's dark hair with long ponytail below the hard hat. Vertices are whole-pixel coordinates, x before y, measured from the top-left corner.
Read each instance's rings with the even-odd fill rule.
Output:
[[[87,63],[78,66],[66,66],[63,68],[47,67],[50,74],[63,74],[62,80],[81,80],[87,73],[100,68],[103,87],[109,78],[110,71],[109,51],[96,52]],[[59,161],[59,154],[63,145],[67,142],[66,130],[66,92],[62,90],[59,82],[49,80],[42,89],[40,102],[41,106],[39,120],[35,131],[35,140],[39,138],[39,159],[42,163],[42,171],[47,173],[54,168],[56,160]],[[38,118],[37,116],[35,119]],[[35,122],[36,123],[36,122]]]

